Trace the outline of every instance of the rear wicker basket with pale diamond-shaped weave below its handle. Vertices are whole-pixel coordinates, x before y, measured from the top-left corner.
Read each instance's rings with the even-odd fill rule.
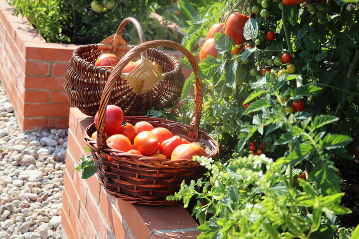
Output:
[[[111,70],[94,65],[103,53],[114,53],[120,58],[134,46],[120,37],[123,27],[133,23],[141,43],[145,42],[140,24],[134,18],[124,19],[116,34],[101,44],[76,48],[66,66],[63,81],[67,98],[82,113],[94,116]],[[177,103],[184,84],[181,63],[175,56],[158,49],[147,49],[132,60],[142,59],[140,65],[127,74],[118,74],[109,103],[122,108],[125,115],[145,115],[148,110],[160,109]],[[161,74],[151,62],[162,67]]]

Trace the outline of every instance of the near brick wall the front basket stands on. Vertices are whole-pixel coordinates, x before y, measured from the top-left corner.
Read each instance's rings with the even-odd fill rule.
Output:
[[[198,226],[182,204],[148,206],[110,196],[98,176],[83,180],[74,170],[86,146],[92,117],[70,108],[61,224],[67,239],[195,239]]]

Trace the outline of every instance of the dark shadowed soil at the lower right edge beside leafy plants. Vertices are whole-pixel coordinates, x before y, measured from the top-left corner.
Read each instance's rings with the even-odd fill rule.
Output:
[[[342,192],[345,192],[341,204],[353,211],[340,221],[343,227],[356,227],[359,224],[359,157],[354,161],[340,160],[336,167],[343,182]]]

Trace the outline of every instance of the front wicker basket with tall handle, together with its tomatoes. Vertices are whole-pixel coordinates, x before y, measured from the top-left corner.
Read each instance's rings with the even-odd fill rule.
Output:
[[[189,184],[205,170],[192,157],[214,159],[219,153],[218,143],[199,130],[203,102],[199,78],[196,78],[195,110],[189,126],[162,118],[123,116],[120,107],[109,104],[117,75],[123,67],[144,50],[159,46],[181,51],[196,75],[196,59],[178,43],[157,40],[132,48],[110,75],[95,122],[84,132],[101,185],[109,194],[131,203],[178,203],[166,200],[166,196],[178,191],[183,180]]]

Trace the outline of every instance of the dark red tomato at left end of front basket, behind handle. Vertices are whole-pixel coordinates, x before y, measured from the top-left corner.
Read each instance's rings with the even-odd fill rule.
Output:
[[[95,126],[97,127],[98,112],[95,115]],[[108,136],[119,134],[123,120],[123,111],[117,105],[109,104],[106,107],[106,128],[105,132]]]

